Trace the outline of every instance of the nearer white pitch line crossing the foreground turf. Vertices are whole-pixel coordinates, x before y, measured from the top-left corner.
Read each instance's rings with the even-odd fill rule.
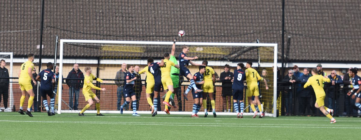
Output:
[[[203,126],[203,127],[276,127],[276,128],[343,128],[343,129],[361,129],[361,127],[309,127],[309,126],[330,126],[330,125],[312,125],[312,124],[235,124],[235,123],[156,123],[156,122],[86,122],[86,121],[9,121],[0,120],[0,122],[27,122],[27,123],[82,123],[82,124],[132,124],[132,125],[155,125],[155,126]],[[194,124],[194,125],[192,125]],[[210,124],[210,125],[204,125]],[[230,126],[231,125],[231,126]],[[234,126],[232,126],[234,125]],[[250,125],[250,126],[244,126]],[[260,125],[260,126],[257,126]],[[275,126],[265,126],[275,125]],[[277,126],[280,125],[280,126]],[[340,126],[340,125],[337,125]]]

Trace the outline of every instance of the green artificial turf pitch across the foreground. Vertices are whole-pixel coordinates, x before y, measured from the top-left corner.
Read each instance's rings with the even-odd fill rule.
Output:
[[[1,112],[1,139],[358,139],[360,118]]]

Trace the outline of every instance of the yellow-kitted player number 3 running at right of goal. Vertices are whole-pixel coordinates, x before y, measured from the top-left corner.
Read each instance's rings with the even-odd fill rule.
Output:
[[[331,80],[329,78],[323,77],[322,75],[318,75],[317,69],[313,68],[312,76],[308,78],[307,82],[303,87],[306,88],[308,86],[312,86],[316,95],[315,107],[319,108],[319,110],[321,110],[322,113],[325,114],[327,118],[331,119],[330,123],[335,123],[336,119],[331,116],[331,114],[327,111],[330,109],[325,106],[326,93],[323,90],[323,84],[322,84],[323,82],[331,82]],[[331,111],[333,112],[333,110],[330,110],[330,112]]]

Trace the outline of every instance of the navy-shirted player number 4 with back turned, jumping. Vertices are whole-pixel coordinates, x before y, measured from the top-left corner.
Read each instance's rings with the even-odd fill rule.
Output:
[[[162,66],[164,66],[163,60],[161,60],[161,62],[154,62],[153,58],[148,58],[148,71],[151,72],[154,77],[154,99],[153,99],[154,112],[152,114],[153,117],[157,115],[158,100],[160,100],[158,96],[160,92],[160,87],[162,85],[162,78],[160,71],[160,67]]]

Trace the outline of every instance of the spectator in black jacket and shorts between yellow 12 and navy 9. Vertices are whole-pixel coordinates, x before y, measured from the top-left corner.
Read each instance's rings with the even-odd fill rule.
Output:
[[[228,112],[231,112],[231,96],[232,96],[232,82],[233,73],[230,72],[230,66],[226,64],[224,70],[219,76],[219,80],[222,82],[222,106],[224,112],[227,112],[227,101],[228,101]]]

